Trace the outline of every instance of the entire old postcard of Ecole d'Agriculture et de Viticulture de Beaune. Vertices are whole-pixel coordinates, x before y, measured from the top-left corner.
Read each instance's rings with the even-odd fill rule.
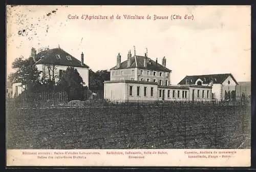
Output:
[[[250,166],[250,6],[6,9],[7,166]]]

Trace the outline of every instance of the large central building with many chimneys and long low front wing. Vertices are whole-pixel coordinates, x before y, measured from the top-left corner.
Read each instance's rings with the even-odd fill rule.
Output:
[[[127,60],[121,62],[121,55],[117,55],[116,66],[110,69],[110,81],[104,82],[104,98],[113,101],[210,101],[211,87],[204,85],[172,85],[172,70],[166,68],[166,58],[162,64],[147,56],[134,56],[131,51]],[[192,92],[197,88],[202,91],[201,96],[193,97]]]

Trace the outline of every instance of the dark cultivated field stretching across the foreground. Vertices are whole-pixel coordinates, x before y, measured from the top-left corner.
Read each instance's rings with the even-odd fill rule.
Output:
[[[250,148],[250,106],[104,102],[7,109],[7,148]]]

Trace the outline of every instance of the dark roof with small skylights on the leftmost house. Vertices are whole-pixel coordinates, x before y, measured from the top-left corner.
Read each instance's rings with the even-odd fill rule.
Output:
[[[56,55],[60,56],[60,59],[56,57]],[[68,60],[66,56],[70,56],[71,60]],[[68,66],[68,67],[80,67],[80,68],[89,68],[89,66],[83,64],[81,65],[81,61],[67,53],[66,51],[55,48],[50,50],[41,51],[36,54],[36,65],[39,64],[50,64],[50,65],[59,65],[59,66]]]

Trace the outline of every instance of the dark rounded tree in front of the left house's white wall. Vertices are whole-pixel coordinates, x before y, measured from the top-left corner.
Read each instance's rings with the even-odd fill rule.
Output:
[[[66,91],[69,101],[81,100],[82,92],[86,89],[83,84],[82,77],[77,70],[73,67],[68,67],[66,71],[62,72],[62,76],[57,83],[57,90]]]

